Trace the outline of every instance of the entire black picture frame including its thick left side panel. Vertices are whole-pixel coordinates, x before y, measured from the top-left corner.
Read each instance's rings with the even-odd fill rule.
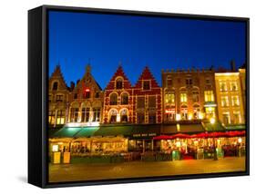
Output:
[[[48,17],[50,10],[115,15],[144,15],[155,17],[178,17],[200,20],[241,21],[246,23],[246,171],[209,174],[176,175],[132,179],[108,179],[79,182],[48,183],[47,163],[47,80],[48,80]],[[28,182],[40,188],[87,186],[131,182],[147,182],[172,179],[205,179],[250,174],[250,19],[213,15],[183,15],[143,11],[98,9],[42,5],[28,11]]]

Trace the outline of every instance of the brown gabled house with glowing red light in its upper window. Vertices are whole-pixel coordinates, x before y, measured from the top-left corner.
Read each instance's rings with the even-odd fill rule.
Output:
[[[97,125],[102,118],[103,91],[91,74],[88,64],[86,73],[70,92],[68,122],[81,125]]]

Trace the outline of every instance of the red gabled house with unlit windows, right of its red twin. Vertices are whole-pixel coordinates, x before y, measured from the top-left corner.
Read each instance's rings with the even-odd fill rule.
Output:
[[[162,89],[148,66],[133,87],[133,121],[138,124],[162,122]]]

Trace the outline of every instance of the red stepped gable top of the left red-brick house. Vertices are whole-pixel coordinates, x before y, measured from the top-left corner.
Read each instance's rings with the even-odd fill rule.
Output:
[[[124,88],[128,89],[131,88],[131,82],[129,82],[127,75],[124,73],[123,67],[121,65],[118,65],[118,69],[116,73],[112,76],[111,80],[108,82],[108,85],[106,87],[106,90],[113,90],[115,89],[115,84],[113,82],[116,81],[117,77],[122,77],[124,79]]]

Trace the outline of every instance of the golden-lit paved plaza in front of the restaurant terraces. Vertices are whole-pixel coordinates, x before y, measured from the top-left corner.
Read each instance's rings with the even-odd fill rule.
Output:
[[[141,178],[245,170],[245,158],[221,160],[132,161],[108,164],[50,164],[49,181]]]

